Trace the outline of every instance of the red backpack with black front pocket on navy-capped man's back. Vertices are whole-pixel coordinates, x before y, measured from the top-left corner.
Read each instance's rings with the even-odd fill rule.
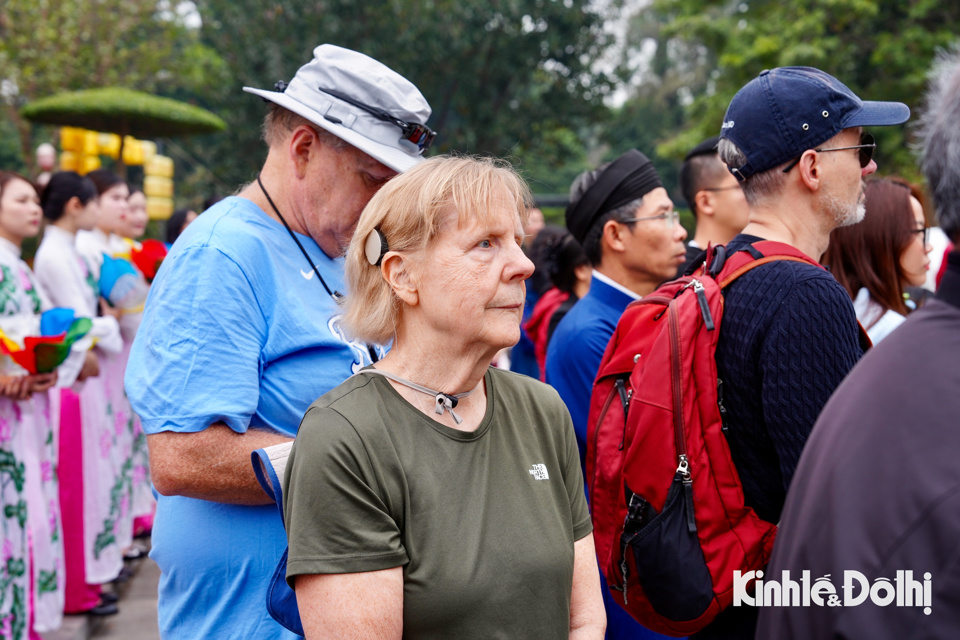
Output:
[[[774,260],[817,265],[778,242],[707,254],[694,275],[624,311],[587,428],[586,481],[607,584],[641,624],[673,636],[696,633],[731,604],[733,572],[762,569],[777,531],[744,504],[723,433],[721,291]]]

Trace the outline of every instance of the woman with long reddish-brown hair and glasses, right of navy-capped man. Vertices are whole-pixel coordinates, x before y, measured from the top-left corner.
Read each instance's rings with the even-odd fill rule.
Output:
[[[822,262],[847,290],[857,319],[876,344],[906,319],[910,308],[904,291],[923,285],[931,247],[923,207],[908,185],[870,181],[866,209],[862,222],[830,234]]]

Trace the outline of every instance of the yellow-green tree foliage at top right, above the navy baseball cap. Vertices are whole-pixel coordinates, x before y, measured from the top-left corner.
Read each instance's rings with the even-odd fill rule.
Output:
[[[633,32],[656,44],[653,82],[679,80],[683,124],[660,133],[663,155],[681,158],[716,135],[734,93],[763,69],[813,66],[868,100],[916,110],[938,48],[957,39],[960,4],[935,0],[653,0]],[[639,46],[640,42],[635,45]],[[649,98],[641,94],[641,102]],[[878,127],[883,173],[916,179],[909,125]]]

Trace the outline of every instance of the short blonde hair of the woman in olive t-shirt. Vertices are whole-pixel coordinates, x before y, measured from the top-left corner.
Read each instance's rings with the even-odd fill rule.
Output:
[[[384,344],[394,337],[402,315],[400,299],[380,268],[364,253],[367,237],[379,229],[390,251],[417,253],[437,238],[451,209],[462,228],[483,223],[504,198],[526,224],[532,202],[527,184],[503,161],[437,156],[393,178],[370,200],[347,249],[344,326],[354,338]]]

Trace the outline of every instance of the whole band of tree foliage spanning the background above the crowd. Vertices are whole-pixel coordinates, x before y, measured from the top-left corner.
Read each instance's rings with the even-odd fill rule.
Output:
[[[719,131],[730,98],[762,69],[816,66],[864,98],[915,109],[935,51],[960,33],[960,4],[942,0],[649,0],[627,30],[630,99],[610,109],[605,100],[622,76],[597,63],[613,44],[608,27],[622,0],[195,0],[199,29],[169,10],[179,4],[0,2],[8,115],[0,160],[29,160],[24,104],[125,86],[221,116],[226,133],[165,144],[178,162],[179,196],[231,192],[265,155],[264,104],[241,87],[289,81],[329,42],[384,61],[422,89],[438,152],[509,157],[544,193],[565,192],[579,171],[637,147],[672,189],[680,158]],[[882,172],[918,177],[909,131],[872,131]]]

